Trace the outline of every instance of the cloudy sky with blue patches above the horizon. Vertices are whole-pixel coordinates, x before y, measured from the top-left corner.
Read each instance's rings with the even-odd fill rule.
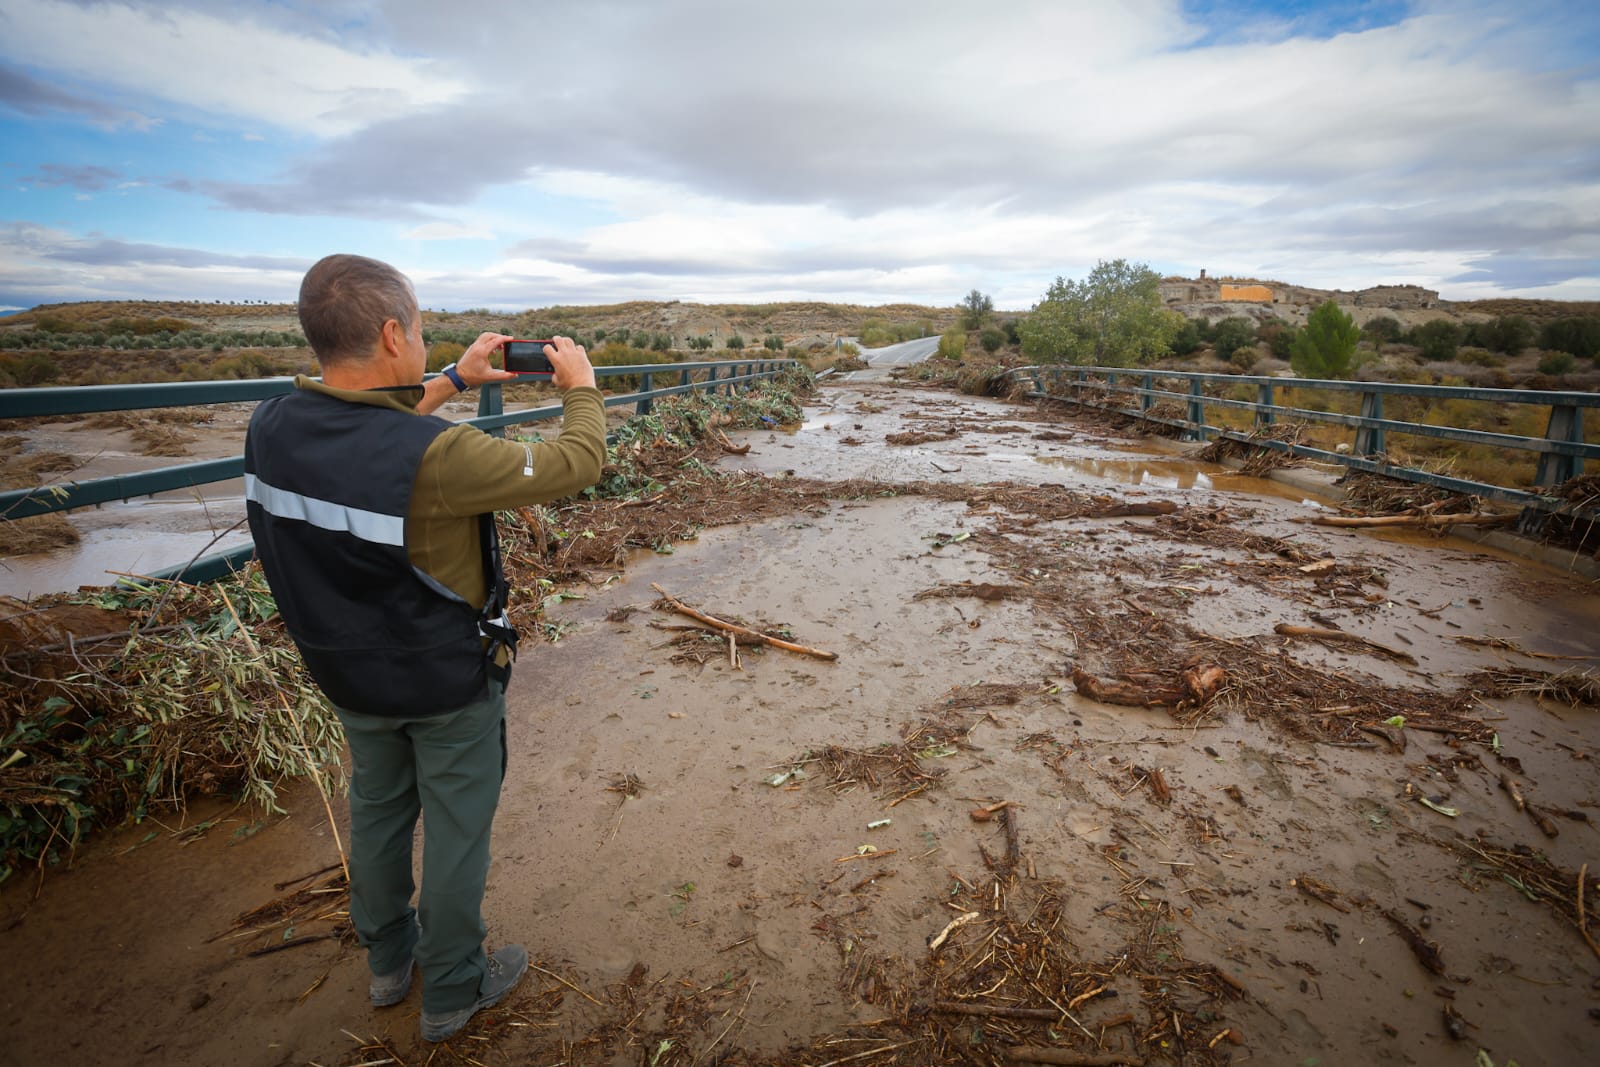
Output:
[[[0,306],[1600,299],[1600,3],[5,0]]]

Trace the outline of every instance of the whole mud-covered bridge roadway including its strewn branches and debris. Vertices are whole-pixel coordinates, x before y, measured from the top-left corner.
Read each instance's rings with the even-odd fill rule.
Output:
[[[424,1046],[301,941],[342,905],[286,902],[338,862],[299,787],[14,878],[0,1062],[1590,1062],[1592,587],[1034,405],[843,382],[734,438],[837,491],[547,611],[499,1008]]]

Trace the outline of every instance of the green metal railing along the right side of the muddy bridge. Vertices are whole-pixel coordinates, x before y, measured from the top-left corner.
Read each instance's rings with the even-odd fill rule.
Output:
[[[1534,486],[1554,486],[1576,478],[1584,470],[1584,459],[1600,459],[1600,445],[1584,442],[1584,408],[1600,408],[1600,394],[1584,392],[1550,392],[1533,389],[1477,389],[1466,386],[1410,386],[1392,382],[1354,382],[1325,381],[1314,378],[1261,378],[1251,374],[1203,374],[1197,371],[1150,371],[1115,366],[1072,366],[1042,365],[1019,366],[1008,373],[1016,382],[1032,384],[1029,395],[1069,400],[1102,411],[1126,414],[1147,422],[1182,430],[1184,440],[1210,440],[1222,437],[1254,448],[1272,448],[1293,456],[1306,456],[1325,462],[1342,464],[1354,470],[1370,470],[1390,478],[1432,485],[1456,493],[1469,493],[1504,504],[1518,504],[1533,509],[1536,514],[1563,510],[1566,502],[1560,498],[1544,496],[1514,486],[1490,485],[1469,478],[1419,470],[1389,462],[1386,458],[1387,434],[1416,434],[1419,437],[1437,437],[1469,445],[1493,445],[1539,454],[1539,466],[1534,474]],[[1165,387],[1166,382],[1187,382],[1187,390]],[[1256,400],[1232,400],[1205,394],[1206,386],[1254,386]],[[1360,395],[1360,414],[1344,414],[1339,411],[1320,411],[1314,408],[1285,408],[1274,403],[1277,389],[1320,389],[1333,392],[1350,392]],[[1070,395],[1058,395],[1051,390],[1069,390]],[[1114,397],[1128,397],[1138,406],[1122,406]],[[1403,422],[1384,418],[1384,397],[1427,397],[1435,400],[1480,400],[1488,403],[1538,405],[1550,410],[1549,426],[1544,437],[1518,437],[1512,434],[1491,434],[1486,430],[1470,430],[1451,426],[1432,426],[1426,422]],[[1152,408],[1163,400],[1186,405],[1184,419],[1170,419],[1152,414]],[[1355,442],[1349,453],[1328,451],[1294,442],[1280,442],[1266,437],[1251,437],[1238,430],[1211,426],[1206,421],[1206,408],[1229,408],[1250,411],[1258,427],[1272,426],[1278,419],[1299,419],[1306,422],[1326,422],[1355,429]],[[1587,512],[1582,512],[1587,515]]]

